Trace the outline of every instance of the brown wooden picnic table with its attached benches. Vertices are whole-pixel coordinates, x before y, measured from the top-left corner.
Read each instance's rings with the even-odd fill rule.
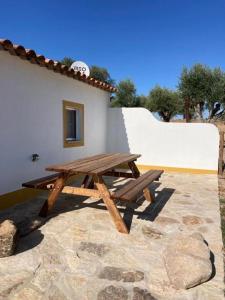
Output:
[[[120,215],[115,200],[134,201],[140,193],[143,193],[147,201],[154,201],[154,196],[148,186],[153,181],[159,180],[163,173],[162,170],[150,170],[140,175],[135,164],[140,156],[128,153],[99,154],[49,166],[46,168],[47,171],[57,173],[23,183],[22,186],[50,190],[48,199],[40,210],[41,217],[46,217],[52,210],[60,193],[94,197],[104,201],[117,230],[121,233],[128,233],[128,228]],[[116,168],[121,164],[127,164],[129,172],[117,170]],[[80,187],[66,185],[68,179],[74,175],[84,175]],[[115,192],[110,192],[103,176],[132,178],[133,180]]]

